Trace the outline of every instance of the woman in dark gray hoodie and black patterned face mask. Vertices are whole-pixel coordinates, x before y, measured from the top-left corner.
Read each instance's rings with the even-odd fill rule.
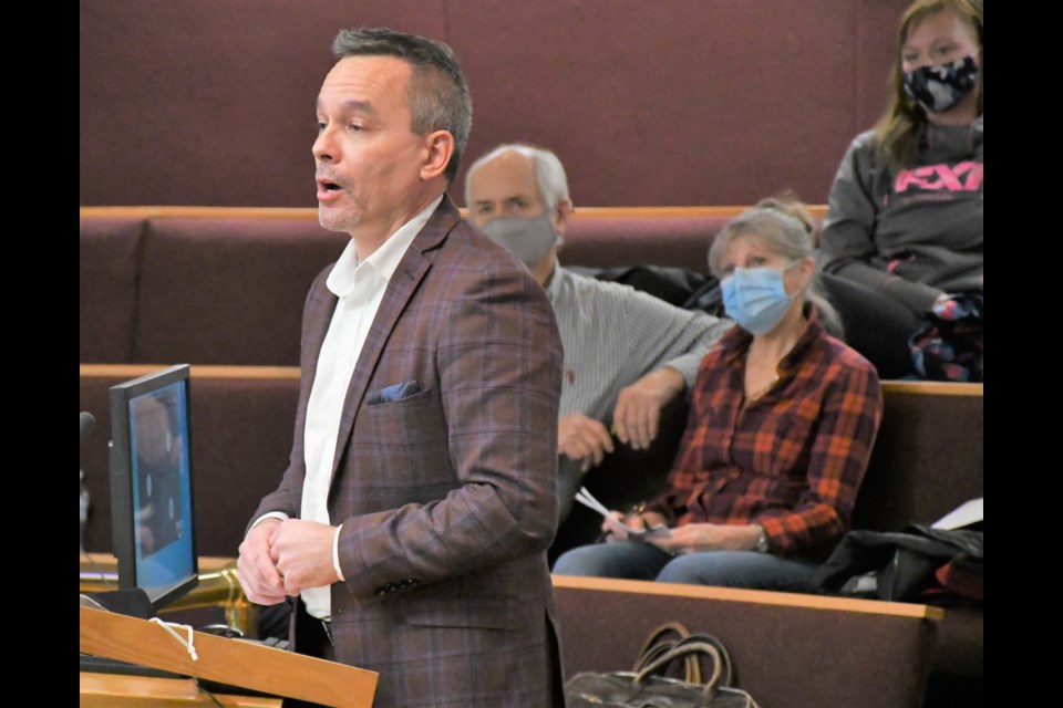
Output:
[[[890,106],[849,145],[830,189],[822,269],[889,298],[883,312],[904,305],[912,332],[954,295],[982,292],[981,66],[981,0],[916,0]]]

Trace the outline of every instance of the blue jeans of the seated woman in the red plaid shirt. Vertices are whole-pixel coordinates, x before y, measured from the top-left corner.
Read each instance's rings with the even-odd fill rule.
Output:
[[[662,583],[808,592],[817,565],[754,551],[703,551],[671,555],[640,542],[596,543],[557,559],[556,575],[657,580]]]

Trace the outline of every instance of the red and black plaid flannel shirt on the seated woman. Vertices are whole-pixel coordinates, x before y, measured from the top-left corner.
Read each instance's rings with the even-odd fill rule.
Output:
[[[745,352],[735,326],[702,360],[669,492],[648,508],[671,525],[764,527],[772,552],[823,560],[849,528],[878,426],[878,375],[829,336],[815,308],[778,365],[780,379],[746,403]]]

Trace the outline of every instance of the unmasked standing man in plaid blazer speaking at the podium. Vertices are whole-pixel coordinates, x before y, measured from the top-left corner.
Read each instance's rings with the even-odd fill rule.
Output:
[[[306,302],[291,459],[240,582],[295,598],[297,652],[378,671],[376,707],[563,705],[553,310],[445,196],[472,111],[450,49],[379,29],[333,52],[319,217],[352,238]]]

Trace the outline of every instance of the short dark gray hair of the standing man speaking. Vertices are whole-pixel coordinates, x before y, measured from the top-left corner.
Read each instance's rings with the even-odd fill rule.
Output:
[[[447,131],[454,136],[454,154],[445,171],[446,180],[453,180],[473,129],[473,100],[451,48],[388,28],[363,28],[340,30],[332,41],[332,54],[337,59],[395,56],[411,64],[413,73],[406,85],[411,129],[417,135]]]

